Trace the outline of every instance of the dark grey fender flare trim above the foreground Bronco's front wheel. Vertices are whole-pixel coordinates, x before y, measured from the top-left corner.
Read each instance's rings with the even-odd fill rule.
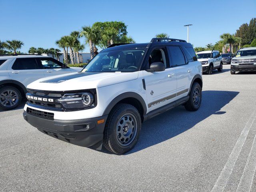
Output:
[[[120,95],[118,95],[116,98],[114,98],[107,106],[107,108],[104,110],[103,115],[107,115],[110,113],[110,111],[112,110],[112,108],[118,103],[120,102],[121,100],[125,99],[125,98],[135,98],[137,99],[142,108],[143,108],[143,114],[146,114],[147,112],[147,107],[146,107],[146,103],[144,101],[144,99],[142,98],[142,96],[140,96],[138,93],[135,93],[135,92],[125,92],[125,93],[122,93]]]

